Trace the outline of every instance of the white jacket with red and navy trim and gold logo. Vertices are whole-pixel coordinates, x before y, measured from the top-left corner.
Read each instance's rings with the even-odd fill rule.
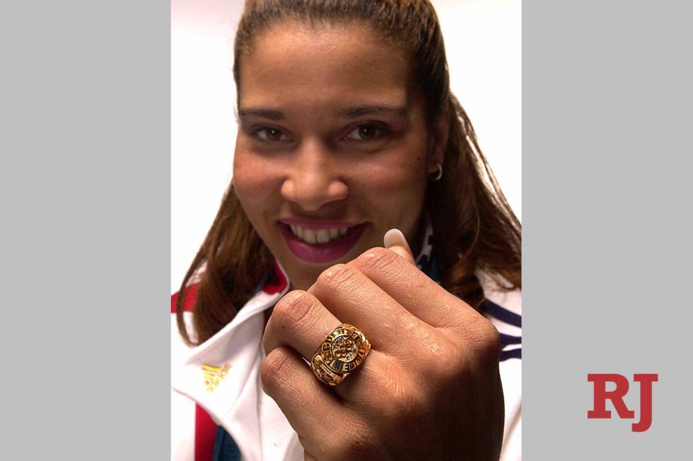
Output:
[[[216,424],[231,435],[244,461],[303,460],[296,433],[260,388],[264,311],[289,290],[286,273],[279,264],[274,266],[275,280],[202,345],[189,347],[182,341],[172,309],[172,460],[211,460]],[[501,460],[520,460],[520,292],[499,291],[483,275],[480,280],[489,300],[482,306],[484,313],[501,333],[499,367],[506,412]],[[192,306],[195,288],[188,290],[187,306]],[[190,325],[192,312],[186,311],[184,316]]]

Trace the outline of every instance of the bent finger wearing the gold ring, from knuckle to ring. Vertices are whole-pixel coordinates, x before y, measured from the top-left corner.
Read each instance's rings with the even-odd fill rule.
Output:
[[[313,294],[295,290],[274,306],[262,344],[268,354],[276,347],[289,346],[310,361],[325,337],[339,325],[342,322]]]

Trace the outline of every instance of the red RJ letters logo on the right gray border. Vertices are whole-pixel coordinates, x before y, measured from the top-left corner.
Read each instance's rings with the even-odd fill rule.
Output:
[[[658,380],[658,374],[634,374],[633,381],[640,383],[640,421],[633,423],[633,432],[644,432],[652,424],[652,383]],[[628,378],[616,373],[588,374],[587,381],[594,383],[594,409],[587,412],[588,418],[610,419],[611,412],[606,409],[606,400],[611,400],[621,419],[634,418],[635,412],[628,409],[623,397],[628,393]],[[615,390],[607,392],[607,381],[616,384]]]

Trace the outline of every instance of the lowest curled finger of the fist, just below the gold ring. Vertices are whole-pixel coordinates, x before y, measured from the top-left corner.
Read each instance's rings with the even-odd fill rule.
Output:
[[[339,397],[315,379],[296,351],[277,347],[267,354],[260,369],[264,392],[272,397],[298,433],[308,453],[320,457],[325,449],[315,432],[338,434],[339,421],[349,421]]]

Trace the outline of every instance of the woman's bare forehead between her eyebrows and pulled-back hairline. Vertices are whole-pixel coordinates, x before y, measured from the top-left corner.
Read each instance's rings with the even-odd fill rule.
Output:
[[[240,65],[242,107],[407,105],[404,51],[363,23],[284,21],[255,37]]]

